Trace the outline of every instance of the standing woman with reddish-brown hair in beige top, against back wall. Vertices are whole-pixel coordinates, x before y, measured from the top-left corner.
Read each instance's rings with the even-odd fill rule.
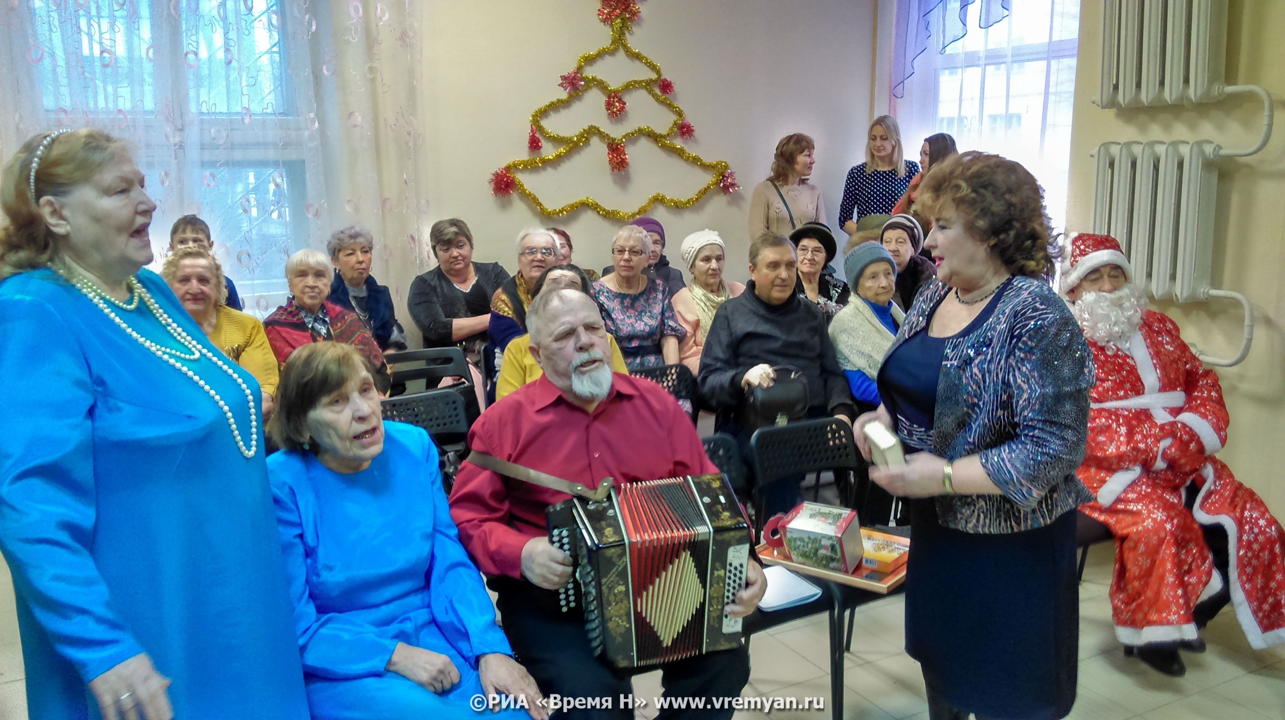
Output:
[[[776,144],[772,173],[754,186],[749,198],[749,236],[765,231],[789,236],[808,222],[825,222],[821,189],[808,182],[816,166],[816,142],[802,132],[786,135]]]

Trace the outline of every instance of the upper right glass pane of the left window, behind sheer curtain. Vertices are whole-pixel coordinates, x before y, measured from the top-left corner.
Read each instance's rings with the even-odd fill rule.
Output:
[[[245,122],[292,114],[276,0],[199,0],[199,10],[182,19],[189,108]]]

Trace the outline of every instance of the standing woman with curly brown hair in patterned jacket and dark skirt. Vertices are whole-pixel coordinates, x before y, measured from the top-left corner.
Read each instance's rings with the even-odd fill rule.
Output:
[[[910,498],[906,652],[929,717],[1063,717],[1076,701],[1076,477],[1094,363],[1049,284],[1049,218],[1020,164],[964,153],[919,190],[937,280],[879,368],[882,422],[914,454],[870,479]]]

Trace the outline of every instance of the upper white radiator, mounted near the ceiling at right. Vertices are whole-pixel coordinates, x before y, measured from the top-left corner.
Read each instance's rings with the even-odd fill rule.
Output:
[[[1222,98],[1227,0],[1104,0],[1101,108]]]

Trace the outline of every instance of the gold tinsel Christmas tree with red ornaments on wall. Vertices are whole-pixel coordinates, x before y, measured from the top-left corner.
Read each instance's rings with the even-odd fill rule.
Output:
[[[541,213],[551,217],[562,217],[572,210],[576,210],[577,208],[587,205],[603,217],[616,221],[627,221],[646,213],[655,203],[660,203],[671,208],[690,208],[700,201],[700,199],[714,187],[721,189],[723,193],[735,193],[740,189],[740,185],[736,184],[736,175],[727,168],[726,162],[705,160],[700,155],[687,151],[686,148],[672,140],[673,137],[686,140],[695,133],[695,128],[691,122],[687,121],[682,108],[669,99],[669,95],[675,91],[673,82],[663,76],[660,65],[642,53],[635,50],[626,37],[630,32],[632,32],[634,21],[636,21],[640,14],[641,8],[639,8],[635,0],[600,0],[598,17],[603,24],[610,26],[612,42],[594,50],[592,53],[581,55],[580,60],[576,63],[576,68],[559,78],[558,85],[567,92],[567,95],[558,98],[556,100],[553,100],[531,113],[531,132],[527,136],[527,149],[531,153],[540,153],[544,149],[545,140],[559,144],[560,148],[547,155],[536,154],[531,158],[513,160],[493,172],[491,175],[491,191],[495,195],[510,195],[514,191],[518,191],[531,200],[531,203],[535,204]],[[603,78],[585,72],[585,67],[587,64],[604,55],[612,55],[618,50],[646,65],[646,68],[651,71],[651,76],[630,80],[613,86]],[[657,103],[673,113],[673,122],[669,123],[669,127],[663,132],[653,130],[650,126],[640,126],[618,136],[607,132],[596,124],[585,127],[576,135],[558,135],[555,132],[550,132],[544,126],[542,121],[549,113],[567,105],[592,89],[601,92],[603,107],[607,110],[607,117],[612,119],[617,119],[628,112],[628,104],[623,96],[625,91],[644,90]],[[587,145],[590,139],[594,136],[600,137],[607,144],[607,163],[612,172],[625,172],[630,167],[630,155],[626,150],[625,142],[634,137],[645,137],[662,150],[673,153],[675,155],[682,158],[684,162],[694,164],[711,173],[709,182],[696,191],[695,195],[684,199],[671,198],[664,193],[653,193],[642,205],[631,210],[607,208],[592,198],[581,198],[580,200],[574,200],[558,208],[549,208],[527,187],[524,182],[522,182],[522,178],[518,176],[518,172],[520,171],[545,167],[550,163],[562,160],[572,151]]]

